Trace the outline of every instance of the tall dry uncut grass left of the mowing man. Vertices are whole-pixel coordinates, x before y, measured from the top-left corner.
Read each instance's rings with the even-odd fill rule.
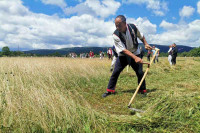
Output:
[[[79,95],[76,80],[89,80],[98,76],[97,71],[105,74],[102,64],[66,58],[1,58],[1,131],[97,132],[104,128],[107,120]]]

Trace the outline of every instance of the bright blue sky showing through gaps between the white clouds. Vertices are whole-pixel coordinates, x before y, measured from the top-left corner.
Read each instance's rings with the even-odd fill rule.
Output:
[[[152,23],[159,25],[162,20],[166,20],[171,23],[178,23],[181,19],[179,15],[179,11],[183,8],[183,6],[191,6],[197,10],[197,1],[196,0],[183,0],[180,2],[180,0],[168,0],[165,1],[168,6],[168,11],[166,11],[166,14],[164,16],[157,16],[152,13],[150,9],[147,9],[145,7],[145,4],[127,4],[123,2],[122,0],[116,0],[120,2],[122,5],[117,10],[116,15],[123,14],[127,17],[132,18],[138,18],[138,17],[146,17],[148,18]],[[62,9],[56,5],[45,5],[40,0],[23,0],[23,5],[27,6],[31,11],[35,13],[44,13],[48,15],[58,14],[60,17],[69,18],[73,15],[66,15]],[[65,0],[68,6],[76,6],[79,4],[78,0]],[[108,19],[113,19],[116,17],[116,15],[111,15]],[[197,12],[194,12],[193,15],[188,17],[187,19],[184,19],[185,22],[190,22],[195,19],[200,19],[200,15]],[[162,28],[158,28],[158,32],[161,32]]]

